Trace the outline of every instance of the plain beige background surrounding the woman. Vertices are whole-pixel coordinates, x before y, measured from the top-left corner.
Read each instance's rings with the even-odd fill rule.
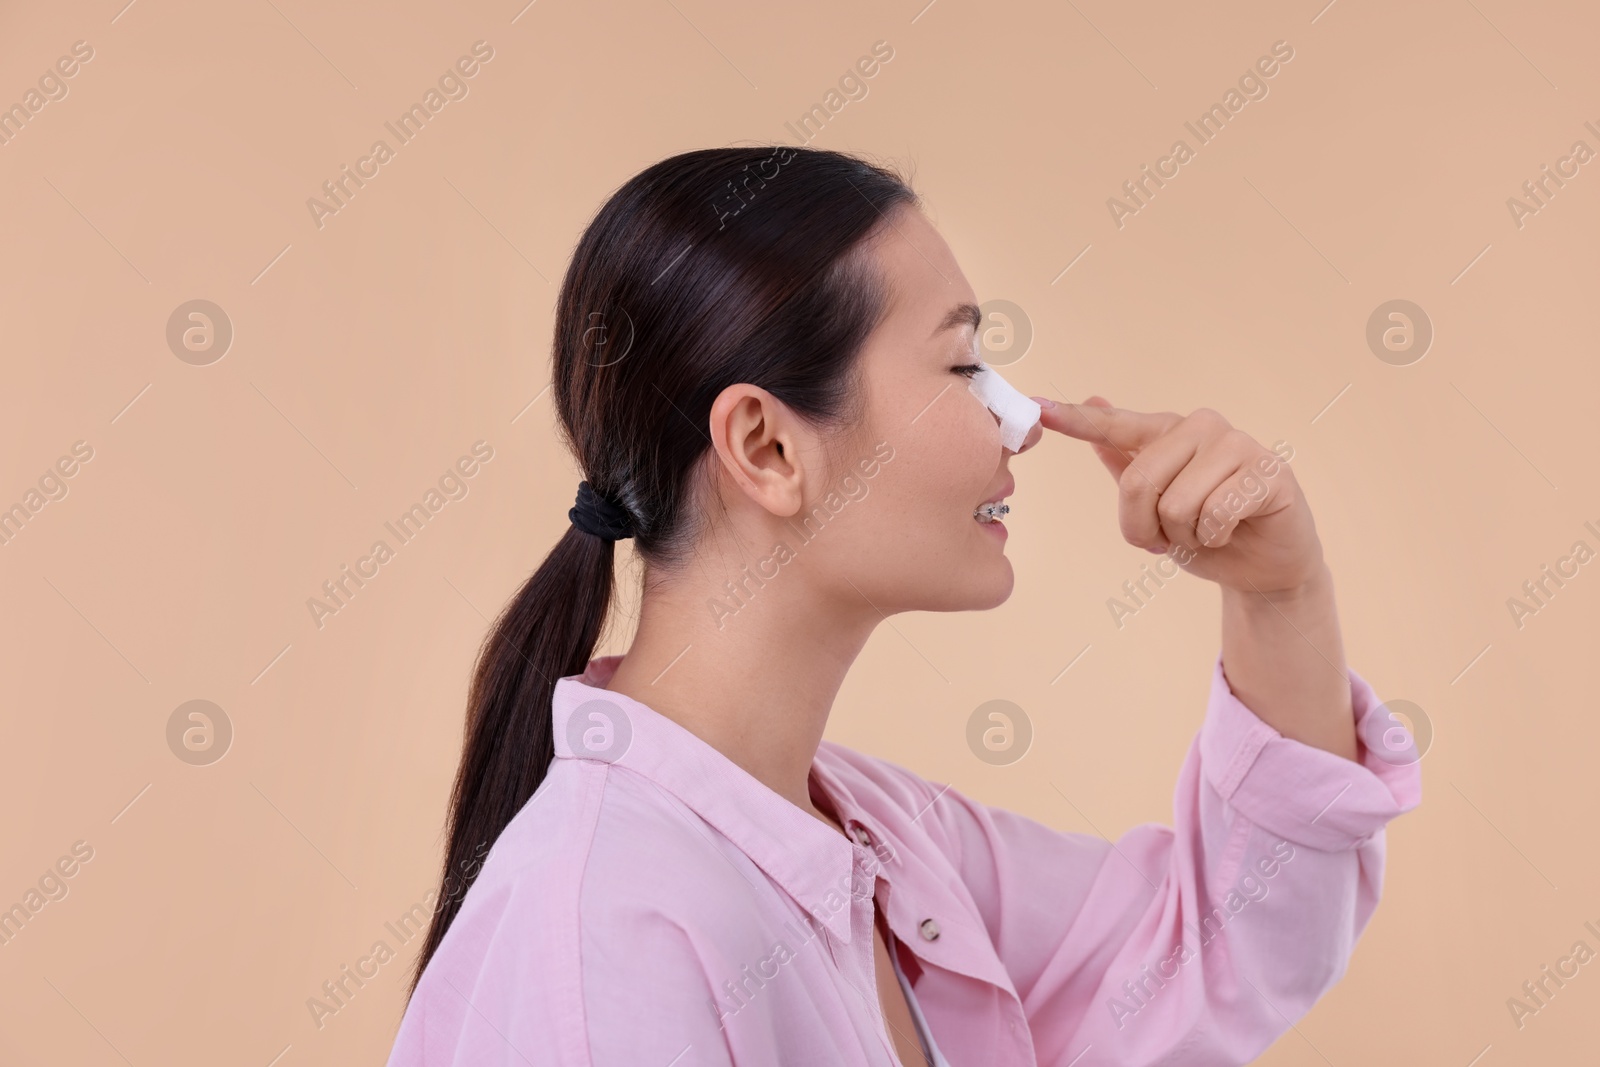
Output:
[[[414,941],[320,1029],[306,1001],[432,888],[477,641],[566,525],[568,251],[661,157],[795,142],[878,40],[813,144],[914,171],[979,299],[1032,322],[1021,389],[1293,445],[1350,665],[1432,726],[1347,977],[1259,1062],[1592,1061],[1600,965],[1506,1006],[1600,949],[1600,565],[1507,609],[1600,549],[1600,163],[1522,227],[1506,203],[1600,149],[1589,5],[122,3],[0,13],[0,104],[94,53],[0,147],[0,506],[93,448],[0,545],[0,904],[93,848],[0,947],[0,1062],[382,1062]],[[318,229],[307,198],[477,40],[469,96]],[[1277,40],[1269,94],[1118,229],[1107,198]],[[1435,330],[1408,366],[1365,341],[1402,298]],[[165,338],[192,299],[234,325],[206,366]],[[307,598],[478,440],[469,494],[318,629]],[[1061,438],[1014,470],[1011,600],[882,627],[829,736],[1062,830],[1166,822],[1219,595],[1184,576],[1118,629],[1154,557],[1110,478]],[[1011,766],[965,741],[997,697],[1037,731]],[[166,739],[194,699],[234,729],[205,766]]]

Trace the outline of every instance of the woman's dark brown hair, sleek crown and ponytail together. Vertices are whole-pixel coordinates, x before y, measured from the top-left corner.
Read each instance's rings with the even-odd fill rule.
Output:
[[[862,250],[915,203],[906,179],[840,152],[733,147],[654,163],[590,221],[557,299],[554,402],[579,469],[627,509],[646,563],[670,568],[698,537],[696,470],[723,389],[760,386],[819,427],[859,418],[858,357],[886,304]],[[610,541],[570,526],[483,641],[413,990],[485,846],[555,758],[550,694],[595,651],[613,557]]]

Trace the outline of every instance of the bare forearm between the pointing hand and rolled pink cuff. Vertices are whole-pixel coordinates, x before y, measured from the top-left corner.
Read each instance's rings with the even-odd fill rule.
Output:
[[[1285,737],[1357,758],[1350,681],[1326,565],[1298,590],[1222,587],[1222,673]]]

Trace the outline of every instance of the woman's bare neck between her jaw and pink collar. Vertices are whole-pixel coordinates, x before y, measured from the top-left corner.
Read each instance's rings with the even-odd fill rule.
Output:
[[[797,569],[803,555],[760,587],[752,582],[742,603],[723,589],[720,568],[669,582],[646,576],[638,632],[606,688],[674,720],[832,825],[811,801],[811,761],[845,673],[882,616],[848,584],[843,595],[819,590]]]

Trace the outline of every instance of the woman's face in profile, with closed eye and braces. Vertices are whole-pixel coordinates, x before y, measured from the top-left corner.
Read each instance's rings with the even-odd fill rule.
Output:
[[[843,474],[822,488],[845,502],[811,544],[822,573],[848,579],[885,614],[992,608],[1014,582],[1006,533],[973,509],[1011,494],[1016,453],[958,370],[978,362],[978,299],[920,210],[894,211],[890,222],[872,246],[888,310],[861,355],[866,416],[848,446],[859,454],[832,445]],[[1035,424],[1021,451],[1042,432]],[[840,584],[840,595],[850,585]]]

